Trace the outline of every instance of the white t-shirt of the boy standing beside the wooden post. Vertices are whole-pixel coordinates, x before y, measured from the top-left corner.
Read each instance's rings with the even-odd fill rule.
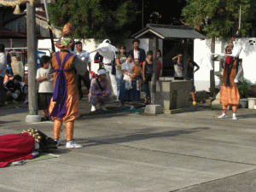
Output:
[[[42,78],[44,76],[49,76],[50,68],[38,68],[37,71],[37,79]],[[52,84],[52,78],[48,80],[44,80],[43,82],[39,83],[38,93],[52,93],[54,91],[54,86]]]

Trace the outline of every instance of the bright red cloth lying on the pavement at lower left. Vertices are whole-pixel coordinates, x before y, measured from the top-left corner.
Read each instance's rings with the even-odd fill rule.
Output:
[[[0,168],[18,160],[33,159],[35,139],[28,133],[0,136]]]

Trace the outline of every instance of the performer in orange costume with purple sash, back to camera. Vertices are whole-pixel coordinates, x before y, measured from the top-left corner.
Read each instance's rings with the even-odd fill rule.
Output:
[[[73,24],[67,23],[62,30],[62,37],[55,44],[58,52],[52,54],[51,65],[54,72],[55,90],[49,105],[50,116],[54,118],[55,143],[59,144],[61,125],[66,123],[66,148],[82,148],[73,141],[74,120],[79,117],[79,92],[76,73],[84,75],[87,70],[84,61],[68,51],[73,45]]]

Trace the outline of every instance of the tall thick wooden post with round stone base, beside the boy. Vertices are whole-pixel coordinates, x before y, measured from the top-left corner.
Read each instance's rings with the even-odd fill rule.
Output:
[[[38,116],[38,94],[36,82],[36,33],[35,33],[35,6],[26,3],[26,40],[27,40],[27,64],[28,64],[28,110],[26,122],[37,122]]]

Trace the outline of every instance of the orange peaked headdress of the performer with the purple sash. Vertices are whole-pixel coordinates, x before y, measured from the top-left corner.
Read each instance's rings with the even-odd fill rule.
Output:
[[[59,41],[55,43],[58,49],[68,49],[74,44],[73,40],[74,26],[72,23],[67,23],[62,28],[62,34]]]

